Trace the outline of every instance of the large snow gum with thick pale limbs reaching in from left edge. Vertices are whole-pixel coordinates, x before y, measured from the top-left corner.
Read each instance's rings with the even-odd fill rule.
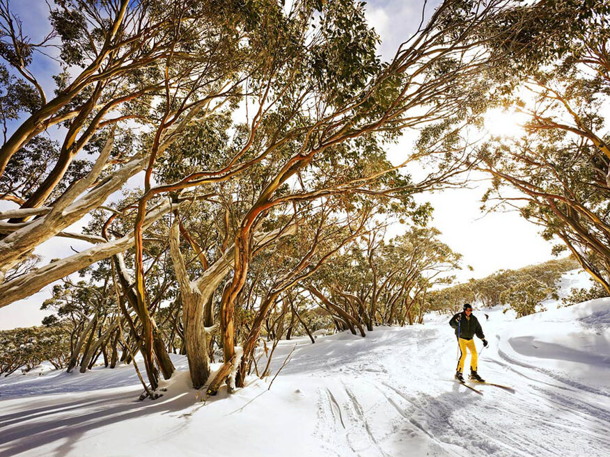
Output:
[[[189,122],[228,101],[236,66],[249,63],[235,33],[244,17],[235,8],[189,0],[60,1],[49,12],[52,34],[34,44],[2,2],[0,76],[10,109],[3,110],[1,188],[20,207],[1,215],[8,222],[1,227],[0,270],[53,236],[98,245],[4,282],[2,306],[132,244],[132,236],[107,241],[64,229],[103,205],[151,155],[162,156]],[[60,65],[54,97],[31,70],[47,49]],[[44,132],[52,127],[58,140],[49,142]],[[75,160],[86,153],[95,160],[83,167]],[[170,206],[150,211],[141,226]]]

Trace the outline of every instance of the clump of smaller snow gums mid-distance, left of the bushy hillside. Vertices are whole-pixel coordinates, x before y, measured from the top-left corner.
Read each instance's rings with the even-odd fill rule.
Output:
[[[410,227],[405,234],[384,240],[383,226],[373,227],[311,278],[307,289],[330,306],[348,327],[373,330],[377,325],[419,321],[425,294],[441,273],[459,268],[460,255],[437,239],[438,230]]]

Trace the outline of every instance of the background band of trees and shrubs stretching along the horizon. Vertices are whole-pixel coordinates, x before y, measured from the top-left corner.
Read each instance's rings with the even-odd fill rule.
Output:
[[[579,268],[579,264],[569,257],[518,270],[501,270],[487,278],[473,279],[426,294],[427,287],[424,286],[429,286],[430,281],[423,280],[415,273],[420,271],[418,268],[429,268],[430,265],[437,268],[441,264],[435,256],[430,257],[430,246],[434,244],[430,241],[434,237],[428,236],[428,232],[420,235],[416,239],[428,242],[412,243],[414,239],[402,236],[391,243],[377,246],[380,249],[374,250],[377,254],[374,256],[359,257],[353,250],[350,251],[351,255],[338,256],[329,271],[322,275],[325,281],[337,284],[333,286],[334,282],[327,284],[320,280],[315,283],[320,290],[314,284],[310,285],[310,290],[315,292],[311,296],[300,294],[298,290],[288,294],[264,324],[265,339],[277,341],[295,335],[310,335],[313,342],[311,335],[316,330],[332,331],[335,326],[336,330],[345,330],[338,326],[341,316],[363,329],[368,322],[366,310],[370,308],[371,300],[375,300],[377,305],[375,323],[382,325],[405,325],[405,319],[408,323],[414,323],[409,311],[412,311],[414,318],[428,311],[456,312],[464,303],[476,303],[483,307],[503,304],[507,310],[514,309],[517,316],[526,316],[540,311],[542,300],[557,297],[558,281],[563,273]],[[407,240],[410,242],[405,243]],[[407,245],[411,248],[425,246],[425,252],[434,262],[420,262],[418,268],[413,268],[413,259],[419,250],[407,249]],[[446,246],[440,244],[437,247],[446,255]],[[396,257],[399,254],[412,258],[412,262],[400,262],[400,257]],[[269,258],[265,257],[262,263],[268,265]],[[371,266],[366,262],[373,258],[377,259],[374,266],[379,278],[377,292],[372,297],[370,294],[375,278],[370,274]],[[340,262],[341,259],[343,261]],[[345,268],[341,268],[342,265]],[[412,283],[423,285],[409,285]],[[417,293],[413,293],[412,289],[416,289]],[[322,290],[328,291],[328,296],[323,295]],[[605,291],[599,285],[591,289],[572,289],[572,294],[563,298],[563,303],[572,305],[600,296],[605,296]],[[320,297],[324,297],[323,303],[331,311],[336,310],[341,314],[330,313],[326,307],[316,306],[314,299]],[[119,320],[113,296],[107,294],[103,286],[83,281],[56,284],[53,296],[45,300],[42,309],[54,312],[45,317],[43,326],[0,330],[0,375],[8,376],[18,370],[27,372],[44,361],[50,362],[56,369],[67,368],[68,371],[78,368],[84,372],[95,364],[114,368],[120,362],[132,362],[139,351],[138,341],[132,333],[122,331],[127,330],[129,324],[125,319]],[[171,305],[157,310],[155,316],[159,321],[157,332],[166,342],[166,350],[184,355],[187,348],[179,311],[179,308]],[[251,326],[252,319],[252,311],[240,314],[240,322],[244,326]],[[272,343],[272,346],[275,344]],[[220,357],[219,351],[217,344],[210,347],[212,360]]]

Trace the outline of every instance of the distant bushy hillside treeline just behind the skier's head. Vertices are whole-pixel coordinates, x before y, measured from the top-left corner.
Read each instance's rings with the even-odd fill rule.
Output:
[[[576,259],[566,257],[518,270],[500,270],[482,279],[430,292],[430,310],[457,312],[464,303],[483,307],[502,304],[515,310],[517,317],[527,316],[540,310],[536,307],[542,300],[558,298],[561,275],[574,268],[579,268]]]

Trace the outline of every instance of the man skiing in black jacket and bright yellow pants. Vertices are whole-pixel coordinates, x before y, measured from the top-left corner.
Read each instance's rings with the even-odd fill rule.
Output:
[[[481,328],[478,319],[472,314],[472,307],[470,303],[464,304],[464,311],[458,312],[451,318],[449,325],[455,328],[455,336],[457,337],[457,344],[460,345],[460,361],[457,362],[457,371],[455,372],[455,379],[460,382],[464,382],[464,376],[462,376],[462,369],[464,369],[464,362],[466,361],[466,348],[470,351],[470,379],[474,379],[480,383],[485,382],[483,378],[478,376],[477,369],[477,355],[476,346],[474,346],[474,335],[478,336],[483,340],[483,346],[487,347],[487,340],[483,335],[483,328]]]

